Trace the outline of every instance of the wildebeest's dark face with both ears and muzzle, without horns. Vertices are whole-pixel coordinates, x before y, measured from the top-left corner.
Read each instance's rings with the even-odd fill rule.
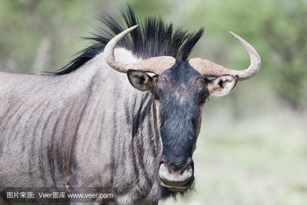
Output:
[[[160,76],[150,77],[135,70],[129,70],[127,75],[135,88],[153,94],[163,144],[160,184],[171,191],[184,191],[194,180],[192,154],[204,103],[210,95],[225,95],[231,91],[238,76],[204,79],[187,60],[177,60]]]

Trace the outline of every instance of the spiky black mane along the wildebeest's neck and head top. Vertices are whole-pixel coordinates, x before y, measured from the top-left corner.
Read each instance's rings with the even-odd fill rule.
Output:
[[[95,43],[78,52],[76,54],[79,55],[78,57],[52,73],[62,75],[76,70],[103,52],[107,43],[115,35],[137,24],[140,26],[130,32],[130,37],[127,35],[122,39],[119,42],[119,47],[132,51],[135,56],[142,59],[173,56],[177,60],[187,60],[193,46],[204,33],[203,27],[198,32],[190,32],[182,28],[174,29],[172,23],[165,23],[161,17],[146,16],[141,19],[134,14],[130,5],[121,9],[121,14],[125,21],[124,24],[107,14],[98,17],[97,19],[103,27],[96,27],[97,33],[92,33],[93,37],[84,37],[84,39],[93,40]]]

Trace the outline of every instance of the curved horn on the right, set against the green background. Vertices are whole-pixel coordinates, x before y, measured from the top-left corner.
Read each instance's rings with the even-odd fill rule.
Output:
[[[192,58],[189,60],[189,64],[204,77],[217,77],[219,75],[239,75],[239,81],[249,79],[253,77],[260,69],[261,60],[257,51],[246,41],[244,41],[238,35],[229,32],[233,37],[235,37],[247,50],[250,58],[251,64],[250,66],[243,71],[235,71],[224,68],[218,64],[212,63],[209,60],[201,59],[201,58]]]

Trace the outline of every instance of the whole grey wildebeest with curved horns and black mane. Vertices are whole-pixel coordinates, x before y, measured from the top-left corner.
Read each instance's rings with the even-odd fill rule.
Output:
[[[254,76],[260,57],[231,33],[251,57],[246,70],[187,60],[203,28],[122,14],[128,29],[101,17],[106,27],[87,38],[96,43],[51,75],[0,72],[4,198],[7,187],[87,188],[114,195],[91,203],[157,204],[193,187],[205,101]]]

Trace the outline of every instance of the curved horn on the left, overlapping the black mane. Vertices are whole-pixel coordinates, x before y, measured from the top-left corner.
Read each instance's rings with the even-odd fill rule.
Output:
[[[111,39],[109,43],[104,48],[104,60],[107,64],[114,70],[127,73],[129,69],[140,70],[144,72],[155,73],[161,75],[163,71],[168,68],[171,68],[175,63],[176,59],[171,56],[160,56],[153,57],[146,60],[142,60],[137,63],[122,63],[115,59],[114,50],[116,45],[121,41],[128,33],[136,29],[138,25],[132,26],[129,29],[126,29],[122,33],[119,33],[117,36]]]

